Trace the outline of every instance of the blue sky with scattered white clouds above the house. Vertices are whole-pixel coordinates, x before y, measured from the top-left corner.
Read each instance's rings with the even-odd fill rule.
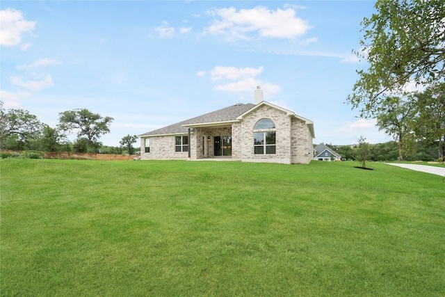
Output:
[[[1,1],[1,101],[51,127],[89,109],[104,145],[264,99],[314,122],[314,143],[390,141],[345,104],[366,68],[374,1]],[[74,139],[74,135],[70,136]]]

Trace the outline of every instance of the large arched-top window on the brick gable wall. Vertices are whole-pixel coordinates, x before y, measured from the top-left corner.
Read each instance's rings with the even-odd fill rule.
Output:
[[[264,118],[254,125],[254,154],[275,154],[276,153],[276,132],[273,120]]]

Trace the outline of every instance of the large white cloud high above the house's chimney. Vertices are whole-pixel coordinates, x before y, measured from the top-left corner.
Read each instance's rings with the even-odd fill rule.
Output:
[[[307,33],[312,26],[304,19],[296,17],[296,10],[287,8],[269,10],[264,6],[252,9],[219,8],[209,10],[207,15],[214,19],[204,29],[204,34],[223,35],[227,40],[251,40],[254,37],[293,39]],[[257,36],[254,36],[254,34]]]

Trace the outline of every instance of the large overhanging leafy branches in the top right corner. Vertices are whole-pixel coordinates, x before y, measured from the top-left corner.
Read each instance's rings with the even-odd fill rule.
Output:
[[[408,83],[432,87],[445,79],[445,1],[378,0],[362,22],[362,49],[369,63],[347,101],[362,116],[372,115],[385,96]]]

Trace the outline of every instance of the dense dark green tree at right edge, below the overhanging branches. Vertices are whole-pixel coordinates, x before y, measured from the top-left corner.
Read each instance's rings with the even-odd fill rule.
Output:
[[[414,131],[421,141],[439,144],[439,156],[445,152],[445,83],[414,95],[419,116]]]

